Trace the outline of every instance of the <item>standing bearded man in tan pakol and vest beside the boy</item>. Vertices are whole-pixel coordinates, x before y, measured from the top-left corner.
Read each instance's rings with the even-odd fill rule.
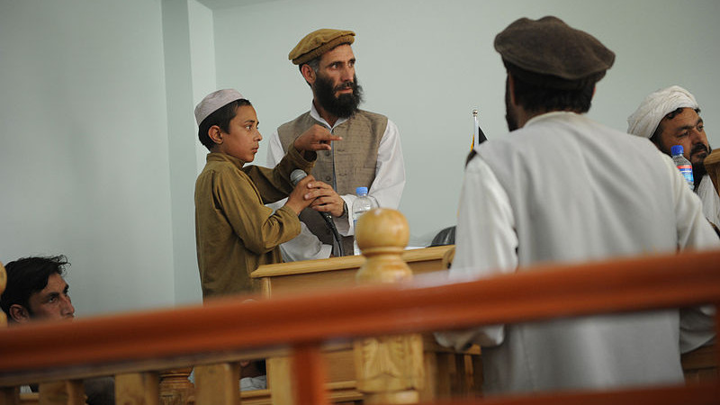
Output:
[[[352,255],[355,229],[349,211],[356,187],[367,187],[381,207],[397,209],[400,204],[405,186],[400,133],[386,116],[358,109],[363,89],[357,83],[354,40],[353,31],[320,29],[306,35],[288,55],[311,87],[311,110],[284,123],[271,136],[267,166],[275,166],[293,139],[312,126],[328,130],[342,141],[334,142],[332,150],[318,153],[312,175],[329,185],[302,211],[301,234],[281,245],[286,261],[331,255],[332,233],[313,211],[329,212],[342,235],[344,254]]]

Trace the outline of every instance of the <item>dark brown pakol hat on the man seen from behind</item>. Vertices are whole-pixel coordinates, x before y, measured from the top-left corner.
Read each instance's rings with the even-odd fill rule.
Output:
[[[585,31],[557,17],[521,18],[495,37],[510,73],[535,85],[572,89],[597,82],[615,62],[615,53]]]

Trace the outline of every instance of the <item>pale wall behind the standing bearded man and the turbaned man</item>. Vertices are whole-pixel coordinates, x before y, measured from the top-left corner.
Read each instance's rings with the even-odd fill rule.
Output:
[[[626,117],[646,94],[680,84],[703,104],[711,144],[720,147],[716,0],[277,0],[220,9],[214,13],[218,84],[251,99],[269,136],[310,108],[310,89],[287,60],[297,41],[318,28],[356,31],[364,107],[400,127],[408,175],[400,208],[413,239],[427,243],[455,224],[473,107],[489,137],[507,132],[495,35],[522,16],[547,14],[617,53],[599,83],[592,118],[626,130]],[[257,161],[265,157],[262,148]]]

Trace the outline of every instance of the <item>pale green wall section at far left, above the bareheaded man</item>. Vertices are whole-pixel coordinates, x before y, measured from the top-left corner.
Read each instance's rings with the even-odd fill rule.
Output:
[[[77,315],[175,302],[159,1],[0,4],[0,260],[67,255]]]

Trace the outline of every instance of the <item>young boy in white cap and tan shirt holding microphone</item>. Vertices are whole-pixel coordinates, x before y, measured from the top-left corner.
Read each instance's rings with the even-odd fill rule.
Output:
[[[253,290],[257,266],[282,261],[281,243],[300,233],[298,214],[315,198],[311,175],[293,189],[290,174],[311,171],[316,150],[339,140],[319,125],[293,143],[274,169],[245,166],[255,159],[259,141],[257,114],[234,89],[208,94],[195,107],[202,145],[210,150],[195,183],[195,238],[202,298]],[[288,196],[288,194],[290,194]],[[273,212],[264,204],[288,197]]]

